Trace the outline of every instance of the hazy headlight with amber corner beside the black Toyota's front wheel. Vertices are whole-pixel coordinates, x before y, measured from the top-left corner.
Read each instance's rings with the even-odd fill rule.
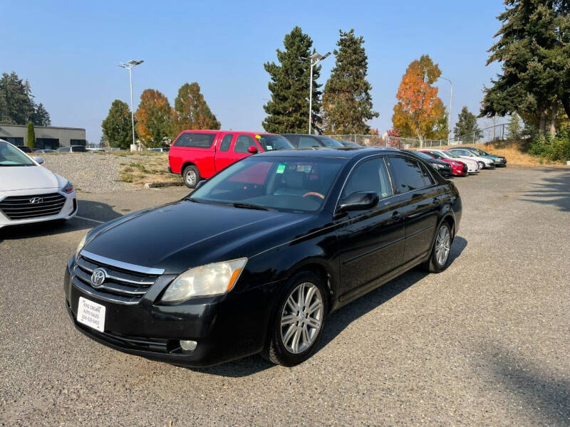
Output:
[[[190,268],[168,285],[163,302],[182,302],[192,297],[222,295],[234,287],[247,258]]]

